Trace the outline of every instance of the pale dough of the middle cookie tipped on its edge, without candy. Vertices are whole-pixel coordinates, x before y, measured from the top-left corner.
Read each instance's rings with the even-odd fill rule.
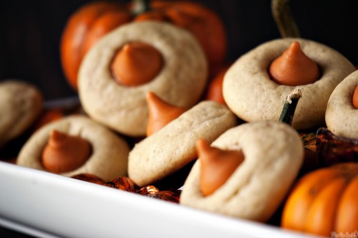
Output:
[[[196,158],[196,141],[209,142],[237,124],[237,117],[222,104],[200,102],[129,152],[128,174],[138,186],[158,182]]]

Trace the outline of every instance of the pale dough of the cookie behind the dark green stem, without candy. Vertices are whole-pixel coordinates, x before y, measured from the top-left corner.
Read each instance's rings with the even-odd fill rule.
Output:
[[[270,79],[268,68],[297,40],[302,51],[315,61],[321,78],[313,84],[300,85],[299,99],[292,126],[297,130],[324,124],[326,105],[335,86],[355,67],[341,53],[311,40],[285,38],[271,40],[240,57],[227,71],[223,82],[225,102],[244,121],[278,120],[284,99],[295,86],[277,84]]]

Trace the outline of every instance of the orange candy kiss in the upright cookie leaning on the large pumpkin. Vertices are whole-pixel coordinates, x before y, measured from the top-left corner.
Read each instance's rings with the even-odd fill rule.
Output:
[[[161,53],[145,43],[127,43],[114,56],[111,64],[114,80],[125,86],[150,82],[162,69]]]

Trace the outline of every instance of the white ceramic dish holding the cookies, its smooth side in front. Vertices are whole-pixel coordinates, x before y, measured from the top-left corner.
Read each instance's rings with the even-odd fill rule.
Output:
[[[36,237],[313,237],[0,161],[0,224]]]

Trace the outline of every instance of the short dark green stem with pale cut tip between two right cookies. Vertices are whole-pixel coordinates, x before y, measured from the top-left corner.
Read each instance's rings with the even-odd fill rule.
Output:
[[[293,115],[295,115],[298,100],[302,97],[302,89],[295,88],[285,99],[284,108],[282,108],[280,121],[291,125]]]

